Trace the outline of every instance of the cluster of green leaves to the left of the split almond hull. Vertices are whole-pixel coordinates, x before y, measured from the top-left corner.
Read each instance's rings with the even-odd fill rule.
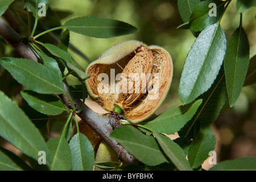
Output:
[[[38,15],[40,9],[38,4],[43,2],[48,9],[49,1],[27,0],[24,2],[24,10],[28,12],[28,19],[32,19],[31,15],[35,19],[34,28],[28,32],[28,42],[40,56],[40,61],[37,63],[15,57],[1,58],[1,66],[26,88],[20,94],[28,105],[17,106],[14,101],[0,91],[0,135],[34,160],[39,159],[40,151],[45,152],[47,165],[43,165],[44,169],[92,170],[94,166],[92,144],[79,130],[71,138],[72,119],[75,119],[78,129],[76,117],[73,115],[79,113],[82,108],[79,111],[75,110],[70,99],[73,109],[69,110],[57,97],[57,95],[65,93],[70,98],[64,89],[65,78],[70,74],[80,81],[80,85],[69,85],[71,90],[78,93],[77,96],[80,96],[83,101],[86,97],[84,80],[89,75],[84,73],[84,70],[72,60],[67,52],[69,31],[96,38],[112,38],[136,32],[137,28],[118,20],[85,16],[70,19],[63,26],[53,27],[34,36],[36,26],[41,18]],[[13,0],[1,1],[1,15],[5,13],[11,3]],[[26,13],[26,11],[24,12]],[[66,30],[61,34],[57,46],[35,40],[47,32],[64,28]],[[64,74],[65,69],[68,70],[67,74]],[[60,115],[61,113],[68,114],[64,115],[67,117],[67,122],[61,130],[60,136],[45,142],[38,129],[45,126],[48,119],[52,117],[63,117]],[[42,166],[38,164],[31,168],[5,148],[0,150],[0,161],[2,170],[42,169]]]

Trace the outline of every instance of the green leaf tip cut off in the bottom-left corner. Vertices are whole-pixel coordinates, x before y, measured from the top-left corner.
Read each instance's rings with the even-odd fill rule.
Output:
[[[1,171],[30,171],[32,168],[13,152],[0,147],[0,169]]]

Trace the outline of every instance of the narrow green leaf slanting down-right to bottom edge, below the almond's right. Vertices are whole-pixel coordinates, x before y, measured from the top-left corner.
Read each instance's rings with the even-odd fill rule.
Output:
[[[154,136],[156,140],[158,140],[158,143],[163,149],[164,153],[171,160],[171,162],[174,163],[177,169],[180,171],[191,171],[188,160],[185,159],[184,151],[177,143],[160,133],[154,132]]]

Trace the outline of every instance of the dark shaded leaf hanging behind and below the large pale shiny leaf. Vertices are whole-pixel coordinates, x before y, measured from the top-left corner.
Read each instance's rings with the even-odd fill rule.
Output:
[[[180,137],[193,138],[197,123],[213,123],[225,104],[228,95],[226,93],[226,82],[224,67],[222,66],[216,80],[207,92],[199,96],[203,103],[183,129],[179,131]]]

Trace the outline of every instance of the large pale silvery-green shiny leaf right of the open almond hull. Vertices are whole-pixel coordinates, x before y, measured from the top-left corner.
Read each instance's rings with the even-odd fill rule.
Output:
[[[207,91],[216,79],[226,51],[226,38],[219,23],[201,32],[188,52],[182,71],[179,96],[183,104]]]

